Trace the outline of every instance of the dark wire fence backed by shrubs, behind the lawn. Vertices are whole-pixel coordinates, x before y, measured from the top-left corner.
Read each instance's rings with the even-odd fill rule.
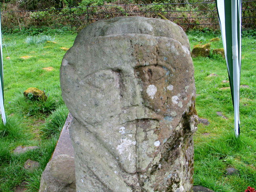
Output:
[[[132,4],[66,7],[33,11],[3,11],[2,28],[22,30],[22,28],[48,26],[67,27],[80,30],[97,20],[119,16],[143,16],[166,18],[180,25],[184,30],[197,28],[219,29],[215,2],[171,3],[171,4]],[[242,27],[256,26],[256,0],[242,1]]]

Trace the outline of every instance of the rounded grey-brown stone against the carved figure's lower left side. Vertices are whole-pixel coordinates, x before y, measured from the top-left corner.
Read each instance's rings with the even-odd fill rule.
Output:
[[[58,155],[48,162],[41,176],[39,192],[75,192],[74,157]]]

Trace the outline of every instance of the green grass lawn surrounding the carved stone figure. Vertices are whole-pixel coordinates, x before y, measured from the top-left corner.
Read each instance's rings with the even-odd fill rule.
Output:
[[[54,36],[54,35],[52,35]],[[213,33],[188,34],[191,44],[210,42]],[[49,161],[59,131],[65,122],[67,108],[61,98],[59,67],[76,35],[56,35],[55,42],[29,45],[27,36],[4,35],[9,55],[3,48],[4,102],[8,122],[0,124],[0,192],[13,192],[26,182],[27,192],[38,192],[41,174]],[[222,42],[211,42],[211,49],[222,48]],[[8,59],[7,57],[10,57]],[[244,192],[256,187],[256,39],[242,39],[240,90],[241,136],[234,137],[233,106],[225,60],[219,55],[194,58],[197,89],[196,109],[209,125],[198,124],[195,134],[194,185],[215,192]],[[50,69],[50,70],[49,70]],[[217,76],[208,77],[210,74]],[[37,102],[25,99],[29,87],[44,90],[48,99]],[[224,88],[224,89],[223,89]],[[220,111],[227,118],[217,115]],[[23,154],[14,154],[17,146],[39,146]],[[34,172],[23,168],[27,159],[38,161]],[[226,175],[226,168],[239,173]]]

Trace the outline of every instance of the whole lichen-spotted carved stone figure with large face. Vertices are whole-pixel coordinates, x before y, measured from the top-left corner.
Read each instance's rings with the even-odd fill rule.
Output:
[[[80,192],[191,192],[196,131],[186,34],[154,18],[83,29],[63,57]]]

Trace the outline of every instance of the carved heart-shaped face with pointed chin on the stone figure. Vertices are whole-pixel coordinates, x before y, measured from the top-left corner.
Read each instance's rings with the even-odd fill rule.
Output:
[[[114,35],[74,45],[62,61],[61,89],[80,124],[71,135],[77,148],[96,158],[86,143],[100,142],[125,172],[147,172],[195,93],[191,63],[186,47],[164,37]]]

